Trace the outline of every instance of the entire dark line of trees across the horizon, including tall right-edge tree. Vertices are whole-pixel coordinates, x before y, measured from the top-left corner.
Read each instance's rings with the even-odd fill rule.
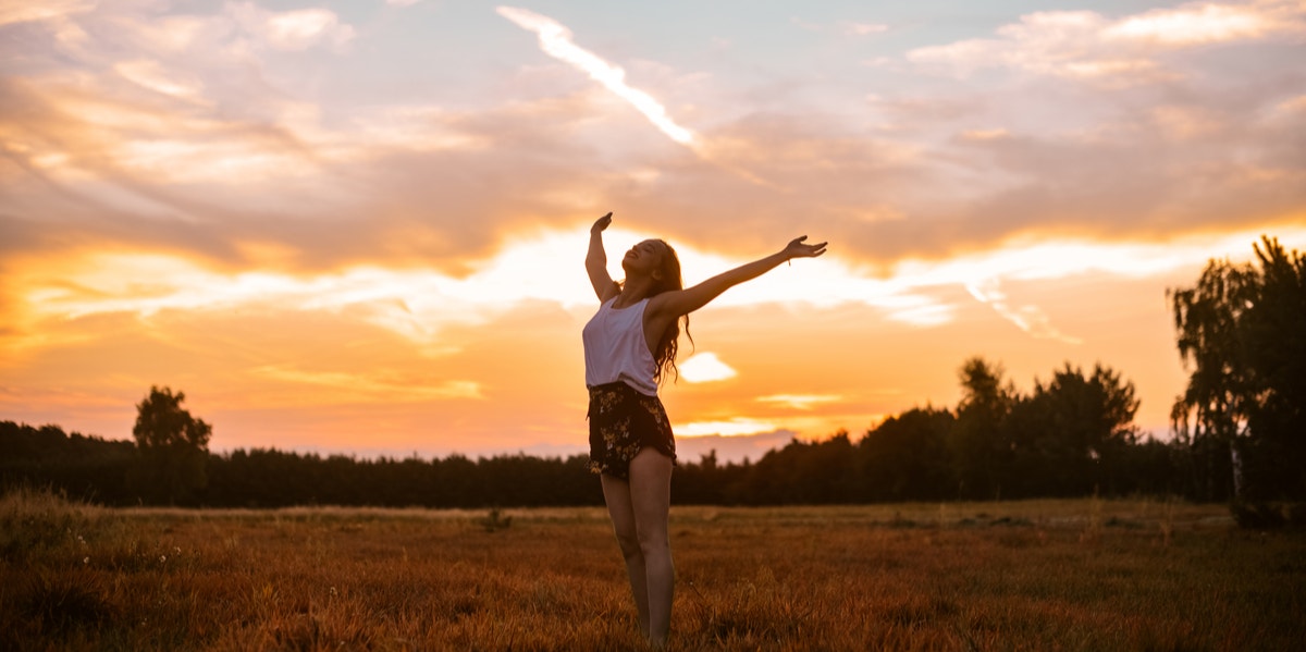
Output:
[[[953,408],[914,408],[853,436],[794,440],[759,460],[679,460],[677,504],[829,504],[1174,495],[1306,500],[1306,257],[1277,240],[1256,261],[1212,260],[1168,291],[1187,387],[1173,438],[1141,436],[1134,384],[1064,365],[1029,393],[983,358],[963,363]],[[208,449],[184,395],[151,388],[135,442],[0,422],[0,490],[50,487],[94,503],[533,507],[601,504],[585,456],[357,459]],[[1273,516],[1275,510],[1252,510]],[[1237,513],[1237,510],[1235,510]]]

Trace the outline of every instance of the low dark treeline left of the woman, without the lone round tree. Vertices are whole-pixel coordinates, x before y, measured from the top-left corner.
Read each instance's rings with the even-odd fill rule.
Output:
[[[357,459],[274,448],[205,453],[201,486],[161,495],[138,469],[148,464],[132,442],[107,440],[59,426],[0,422],[0,487],[48,487],[110,506],[289,507],[535,507],[601,504],[585,456],[525,455],[471,460]]]

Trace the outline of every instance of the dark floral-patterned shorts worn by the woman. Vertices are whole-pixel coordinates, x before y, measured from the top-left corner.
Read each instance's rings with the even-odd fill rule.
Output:
[[[671,421],[657,396],[626,383],[589,388],[589,470],[631,478],[631,460],[652,447],[675,461]]]

